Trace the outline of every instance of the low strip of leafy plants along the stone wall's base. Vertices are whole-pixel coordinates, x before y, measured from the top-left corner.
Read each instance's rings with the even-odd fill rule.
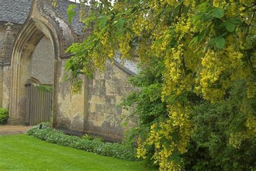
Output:
[[[77,149],[83,149],[99,155],[111,156],[118,159],[135,161],[136,148],[125,146],[120,143],[104,142],[101,139],[92,139],[89,136],[71,136],[64,134],[63,131],[54,129],[48,123],[34,126],[27,132],[30,136],[58,145],[69,146]]]

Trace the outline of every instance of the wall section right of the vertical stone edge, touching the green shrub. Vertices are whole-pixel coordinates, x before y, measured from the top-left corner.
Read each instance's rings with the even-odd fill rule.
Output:
[[[116,105],[132,90],[129,77],[130,74],[108,62],[105,73],[96,72],[89,80],[85,132],[114,141],[123,138],[120,117],[126,111]]]

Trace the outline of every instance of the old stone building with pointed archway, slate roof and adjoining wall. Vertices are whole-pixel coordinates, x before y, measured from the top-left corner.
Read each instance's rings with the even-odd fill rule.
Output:
[[[136,73],[136,66],[130,61],[121,65],[116,58],[114,64],[107,63],[105,73],[96,72],[93,79],[81,76],[83,91],[72,95],[69,83],[63,81],[64,64],[70,58],[65,50],[86,33],[78,15],[72,23],[67,22],[66,10],[72,2],[59,0],[57,7],[51,3],[0,0],[0,107],[9,109],[8,123],[32,125],[33,117],[48,121],[39,116],[40,109],[51,114],[57,128],[113,141],[122,139],[120,116],[127,111],[116,105],[132,90],[127,78]],[[51,105],[46,105],[50,112],[31,98],[28,86],[32,84],[53,87]]]

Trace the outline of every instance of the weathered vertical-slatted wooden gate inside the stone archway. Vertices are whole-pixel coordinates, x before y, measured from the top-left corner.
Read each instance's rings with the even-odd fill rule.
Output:
[[[26,86],[26,125],[51,121],[52,93],[38,88],[37,84]]]

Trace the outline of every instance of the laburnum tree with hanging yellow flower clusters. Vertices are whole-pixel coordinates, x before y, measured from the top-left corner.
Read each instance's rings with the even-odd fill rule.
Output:
[[[166,111],[139,135],[139,158],[151,158],[160,170],[180,170],[196,129],[191,98],[212,104],[225,100],[238,80],[245,81],[246,104],[238,108],[242,122],[229,143],[239,148],[255,138],[254,1],[102,0],[92,4],[89,15],[85,4],[80,2],[80,20],[90,34],[67,50],[72,54],[65,65],[72,90],[81,90],[79,74],[92,78],[95,70],[104,72],[116,52],[122,59],[138,58],[142,72],[151,67],[160,80],[147,86],[147,92],[152,101],[159,95]],[[68,10],[70,17],[74,7]],[[252,107],[245,107],[248,104]],[[151,156],[148,146],[153,147]]]

